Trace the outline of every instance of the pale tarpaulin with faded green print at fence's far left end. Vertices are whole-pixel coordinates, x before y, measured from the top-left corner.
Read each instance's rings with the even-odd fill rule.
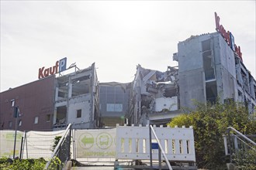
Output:
[[[16,154],[19,156],[20,145],[23,132],[17,131],[16,135]],[[0,131],[0,157],[13,157],[15,131]]]

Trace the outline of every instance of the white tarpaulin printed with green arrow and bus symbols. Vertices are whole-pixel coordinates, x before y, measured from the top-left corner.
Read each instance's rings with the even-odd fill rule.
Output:
[[[115,158],[116,129],[78,130],[77,158]]]

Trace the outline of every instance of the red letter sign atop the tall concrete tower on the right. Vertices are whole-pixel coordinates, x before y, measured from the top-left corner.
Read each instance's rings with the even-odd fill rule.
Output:
[[[220,25],[220,16],[215,12],[216,31],[220,32],[221,36],[225,39],[230,48],[237,53],[241,61],[243,61],[242,53],[240,52],[240,46],[234,43],[234,36],[230,31],[226,31],[222,25]]]

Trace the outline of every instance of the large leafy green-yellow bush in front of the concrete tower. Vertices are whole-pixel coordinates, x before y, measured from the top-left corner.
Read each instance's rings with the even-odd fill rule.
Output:
[[[255,115],[248,115],[243,104],[230,101],[228,104],[199,104],[189,114],[182,114],[168,125],[193,126],[195,138],[195,157],[199,168],[223,169],[227,157],[224,152],[223,135],[227,128],[233,127],[243,134],[256,131]]]

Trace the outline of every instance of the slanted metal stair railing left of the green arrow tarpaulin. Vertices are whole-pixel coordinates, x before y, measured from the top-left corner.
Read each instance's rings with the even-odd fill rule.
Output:
[[[47,169],[61,169],[64,168],[64,165],[67,161],[71,159],[71,124],[68,124],[64,135],[61,137],[60,141],[57,144],[57,147],[54,149],[54,153],[51,155],[50,160],[45,166]],[[57,162],[57,164],[54,164]],[[54,166],[54,167],[52,167]]]

